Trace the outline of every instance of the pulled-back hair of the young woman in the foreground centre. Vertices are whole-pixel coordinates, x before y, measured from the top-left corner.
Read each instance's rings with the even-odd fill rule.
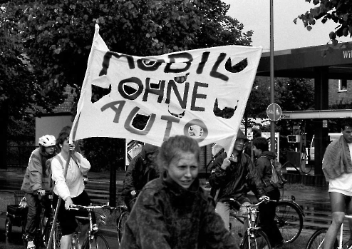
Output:
[[[180,153],[194,153],[197,161],[200,162],[200,146],[195,139],[188,136],[173,136],[162,143],[159,153],[157,154],[157,163],[160,171],[170,166],[174,158],[180,156]]]

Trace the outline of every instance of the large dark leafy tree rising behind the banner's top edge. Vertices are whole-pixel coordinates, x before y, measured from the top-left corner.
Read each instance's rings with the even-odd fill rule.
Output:
[[[14,26],[11,36],[21,41],[36,79],[29,86],[38,91],[31,96],[49,111],[48,98],[62,101],[66,85],[79,91],[95,24],[111,51],[135,56],[249,46],[252,36],[252,31],[244,33],[243,25],[226,15],[229,6],[219,0],[14,0],[3,8],[1,23]]]

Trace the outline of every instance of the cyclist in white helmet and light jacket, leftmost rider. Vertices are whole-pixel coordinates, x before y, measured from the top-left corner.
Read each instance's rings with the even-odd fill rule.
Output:
[[[36,220],[41,215],[40,197],[45,195],[46,161],[56,155],[56,138],[52,135],[45,135],[39,138],[39,148],[32,151],[29,157],[29,164],[24,174],[21,190],[25,192],[28,214],[24,238],[28,241],[27,248],[34,249],[33,238],[36,233]],[[43,201],[43,203],[49,203]],[[48,205],[50,208],[50,205]]]

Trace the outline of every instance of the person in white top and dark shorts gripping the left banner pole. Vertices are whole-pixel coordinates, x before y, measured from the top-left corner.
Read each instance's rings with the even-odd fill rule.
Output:
[[[88,216],[86,211],[68,210],[68,208],[72,208],[73,203],[78,205],[90,205],[91,203],[88,194],[84,190],[85,185],[83,183],[83,174],[88,173],[90,163],[80,153],[75,151],[74,144],[69,144],[68,136],[69,134],[66,132],[59,134],[58,146],[60,146],[61,152],[51,161],[52,178],[55,181],[53,205],[57,205],[58,196],[63,200],[58,207],[58,221],[60,222],[63,235],[61,238],[61,249],[70,248],[73,233],[78,227],[76,215]],[[70,151],[71,158],[68,158]],[[64,167],[68,160],[67,173],[64,176]],[[80,243],[83,242],[86,235],[89,221],[82,220],[81,223],[81,233],[78,238]],[[95,223],[95,220],[93,220],[93,223]]]

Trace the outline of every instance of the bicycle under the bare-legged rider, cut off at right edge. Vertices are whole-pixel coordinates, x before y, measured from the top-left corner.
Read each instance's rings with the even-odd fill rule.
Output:
[[[352,218],[352,215],[345,215],[345,217]],[[309,238],[308,243],[306,245],[306,249],[321,249],[326,232],[327,232],[326,228],[319,228],[318,230],[316,230],[313,233],[313,235],[311,235],[311,238]],[[338,238],[336,238],[335,243],[333,243],[333,249],[343,249],[343,248],[345,247],[343,245],[343,223],[342,223],[340,228],[340,235],[338,236]]]

